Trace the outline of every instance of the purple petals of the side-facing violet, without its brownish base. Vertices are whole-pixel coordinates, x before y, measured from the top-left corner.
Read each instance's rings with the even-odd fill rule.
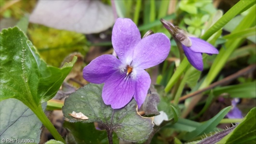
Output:
[[[208,55],[218,54],[219,51],[214,48],[211,44],[207,43],[206,41],[196,38],[190,37],[191,40],[191,47],[187,47],[182,44],[182,48],[184,51],[185,56],[187,57],[188,61],[193,65],[197,70],[203,71],[204,63],[202,53],[206,53]]]

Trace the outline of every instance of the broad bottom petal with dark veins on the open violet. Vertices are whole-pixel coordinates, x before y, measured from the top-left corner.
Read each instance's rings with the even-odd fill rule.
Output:
[[[102,98],[111,108],[122,108],[131,101],[134,91],[135,80],[131,76],[127,77],[126,73],[117,71],[104,84]]]

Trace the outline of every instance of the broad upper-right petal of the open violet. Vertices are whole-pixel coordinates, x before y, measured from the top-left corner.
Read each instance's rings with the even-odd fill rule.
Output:
[[[134,49],[132,66],[147,69],[165,60],[171,48],[170,40],[162,33],[143,38]]]

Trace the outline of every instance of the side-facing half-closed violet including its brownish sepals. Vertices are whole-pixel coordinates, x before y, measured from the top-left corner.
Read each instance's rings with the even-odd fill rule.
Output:
[[[208,55],[219,53],[219,51],[208,42],[200,38],[189,36],[189,34],[180,29],[178,26],[174,26],[164,19],[161,19],[160,21],[174,38],[178,48],[182,47],[190,64],[197,70],[203,71],[204,69],[202,57],[203,53]]]

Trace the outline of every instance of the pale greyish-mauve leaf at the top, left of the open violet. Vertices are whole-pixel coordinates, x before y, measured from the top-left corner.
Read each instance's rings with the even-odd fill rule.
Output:
[[[114,24],[110,6],[99,0],[39,0],[30,22],[78,33],[98,33]]]

